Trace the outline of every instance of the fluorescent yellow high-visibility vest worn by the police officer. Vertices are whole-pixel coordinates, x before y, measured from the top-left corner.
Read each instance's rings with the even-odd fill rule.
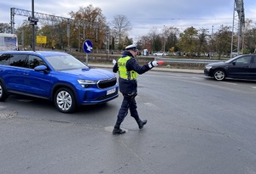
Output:
[[[124,58],[119,58],[119,60],[118,60],[119,77],[126,79],[126,80],[135,80],[135,79],[137,79],[137,72],[134,70],[128,71],[126,69],[126,63],[129,59],[131,59],[130,56],[126,56]]]

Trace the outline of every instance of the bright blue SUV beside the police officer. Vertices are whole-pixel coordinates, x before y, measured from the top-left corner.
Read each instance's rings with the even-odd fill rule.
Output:
[[[63,113],[119,95],[112,71],[90,69],[68,53],[43,51],[0,53],[0,101],[9,94],[48,99]]]

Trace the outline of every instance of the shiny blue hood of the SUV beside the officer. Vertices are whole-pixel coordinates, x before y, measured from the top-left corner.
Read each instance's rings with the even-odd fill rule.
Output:
[[[90,79],[90,80],[102,80],[110,79],[114,77],[113,72],[110,70],[102,70],[96,68],[87,68],[79,70],[63,70],[62,73],[67,73],[67,76],[79,76],[81,79]]]

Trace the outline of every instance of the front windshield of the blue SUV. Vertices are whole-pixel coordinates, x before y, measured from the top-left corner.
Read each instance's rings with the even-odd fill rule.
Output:
[[[45,56],[45,59],[55,70],[75,70],[88,68],[72,55]]]

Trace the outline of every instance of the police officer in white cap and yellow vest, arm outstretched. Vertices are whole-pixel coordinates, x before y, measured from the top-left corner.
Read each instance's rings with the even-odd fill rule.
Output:
[[[137,76],[157,66],[158,61],[154,60],[147,65],[140,66],[137,64],[136,56],[137,45],[129,45],[125,48],[123,56],[113,66],[113,72],[116,73],[119,71],[119,91],[124,97],[121,108],[119,109],[117,121],[113,127],[113,134],[125,133],[125,130],[122,130],[120,125],[128,114],[128,109],[130,109],[131,116],[137,121],[139,129],[142,129],[147,123],[147,120],[142,121],[137,113],[137,103],[135,100],[137,96]]]

